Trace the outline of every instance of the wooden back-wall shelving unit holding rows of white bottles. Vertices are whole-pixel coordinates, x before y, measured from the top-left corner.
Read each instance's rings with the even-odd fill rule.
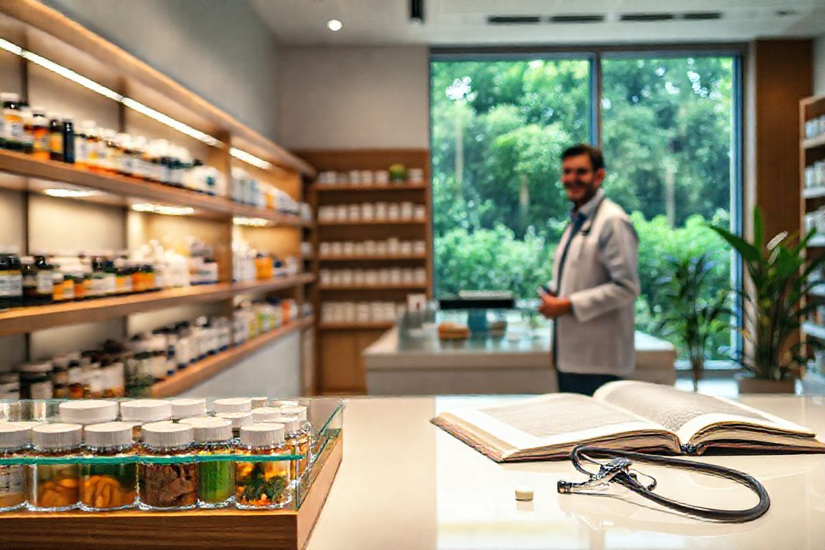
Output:
[[[329,185],[311,183],[309,202],[316,212],[319,206],[365,202],[412,202],[423,204],[424,219],[334,221],[318,220],[314,232],[314,250],[324,241],[359,242],[397,237],[401,240],[422,240],[426,253],[413,256],[317,256],[312,262],[314,273],[321,266],[351,266],[353,268],[387,268],[393,266],[424,267],[425,284],[377,284],[361,286],[314,285],[312,299],[318,316],[315,366],[316,390],[320,393],[364,393],[366,378],[361,351],[377,340],[394,323],[323,322],[325,302],[406,302],[408,294],[431,294],[432,288],[432,227],[430,152],[428,149],[347,149],[298,151],[319,172],[350,172],[351,170],[386,170],[395,163],[408,168],[422,168],[423,183],[389,183],[381,186]]]

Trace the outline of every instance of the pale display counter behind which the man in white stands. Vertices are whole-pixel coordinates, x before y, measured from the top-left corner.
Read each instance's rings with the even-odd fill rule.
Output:
[[[628,378],[672,384],[676,351],[667,342],[636,332],[636,369]],[[435,325],[393,327],[364,350],[370,395],[450,393],[551,393],[550,328],[510,322],[507,336],[440,340]]]

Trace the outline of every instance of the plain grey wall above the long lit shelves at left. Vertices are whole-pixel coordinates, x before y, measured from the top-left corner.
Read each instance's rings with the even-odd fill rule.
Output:
[[[277,139],[276,41],[246,0],[45,3]]]

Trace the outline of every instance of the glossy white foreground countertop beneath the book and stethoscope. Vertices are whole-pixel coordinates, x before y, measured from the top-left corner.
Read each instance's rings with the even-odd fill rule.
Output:
[[[344,460],[309,550],[530,548],[825,548],[825,454],[700,457],[762,482],[771,510],[747,524],[675,515],[622,487],[616,497],[559,495],[581,481],[568,461],[497,464],[429,420],[444,408],[512,397],[356,398],[344,416]],[[742,402],[825,435],[825,397],[744,396]],[[658,491],[699,505],[745,508],[746,487],[642,465]],[[516,485],[535,488],[517,503]]]

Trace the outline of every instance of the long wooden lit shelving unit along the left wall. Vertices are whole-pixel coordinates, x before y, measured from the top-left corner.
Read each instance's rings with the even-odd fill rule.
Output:
[[[311,181],[316,173],[308,162],[54,9],[34,0],[0,0],[0,28],[7,41],[0,49],[3,92],[16,92],[33,106],[69,115],[75,125],[95,120],[117,132],[166,139],[214,167],[228,183],[233,169],[240,168],[293,199],[304,200],[304,178]],[[90,193],[54,198],[54,189]],[[131,207],[136,203],[186,206],[194,212],[148,214],[134,211]],[[23,253],[35,248],[134,250],[150,241],[175,249],[191,236],[210,245],[219,267],[217,284],[0,312],[0,357],[15,355],[0,359],[0,370],[11,369],[20,360],[96,346],[109,337],[127,338],[169,322],[229,315],[240,297],[273,295],[304,303],[306,287],[314,282],[314,275],[304,272],[234,283],[233,244],[241,239],[276,256],[297,257],[299,268],[311,271],[313,262],[300,257],[300,245],[311,238],[315,225],[293,214],[222,196],[0,150],[0,211],[22,212],[19,219],[4,214],[0,244],[16,244]],[[236,225],[234,218],[257,219],[262,227]],[[152,314],[142,314],[146,312]],[[303,341],[311,337],[313,323],[312,317],[302,319],[216,355],[187,369],[187,378],[173,377],[157,391],[172,395],[295,332],[301,335],[301,350],[311,350]],[[66,329],[70,332],[57,328],[68,326],[73,326]],[[22,356],[20,350],[25,350]]]

